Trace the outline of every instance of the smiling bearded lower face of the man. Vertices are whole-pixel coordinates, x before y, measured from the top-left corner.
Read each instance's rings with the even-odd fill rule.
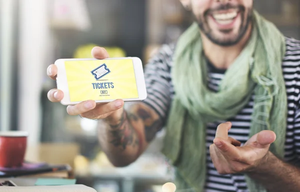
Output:
[[[199,28],[212,43],[219,46],[235,45],[249,32],[253,14],[251,1],[245,4],[193,2],[186,5],[193,5],[193,14]]]

